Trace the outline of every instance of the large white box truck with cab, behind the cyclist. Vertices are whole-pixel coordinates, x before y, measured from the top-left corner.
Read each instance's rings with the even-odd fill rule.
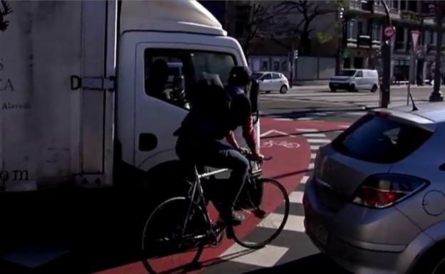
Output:
[[[173,132],[188,110],[158,94],[163,65],[181,64],[185,88],[247,65],[197,1],[1,1],[0,11],[1,192],[175,174]]]

